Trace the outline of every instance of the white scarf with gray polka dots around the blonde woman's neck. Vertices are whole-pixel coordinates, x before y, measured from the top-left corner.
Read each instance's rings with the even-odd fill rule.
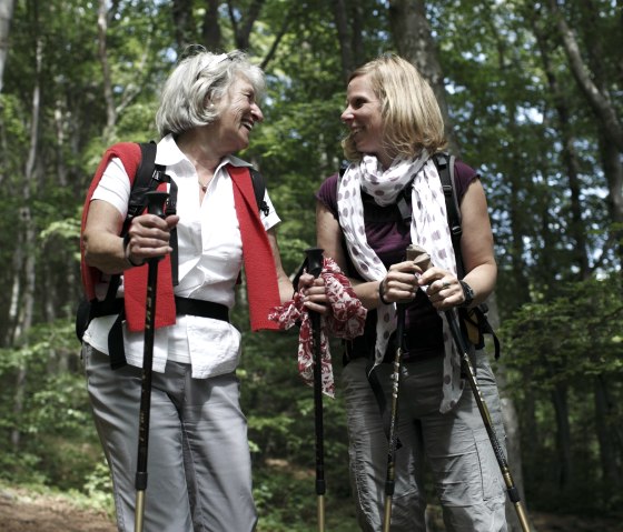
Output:
[[[346,238],[348,254],[359,274],[367,281],[380,281],[387,269],[368,245],[364,228],[362,189],[377,204],[396,202],[398,193],[412,183],[411,237],[414,244],[423,247],[432,263],[456,274],[456,261],[446,219],[444,191],[437,169],[425,151],[417,159],[397,159],[383,170],[376,157],[364,155],[359,163],[352,163],[344,173],[337,191],[339,224]],[[461,397],[461,359],[453,344],[447,321],[439,312],[444,331],[444,382],[439,410],[447,412]],[[383,361],[387,342],[396,329],[396,305],[377,308],[375,365]]]

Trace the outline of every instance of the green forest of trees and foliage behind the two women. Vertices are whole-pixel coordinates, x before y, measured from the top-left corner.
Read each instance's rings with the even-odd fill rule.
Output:
[[[1,0],[0,486],[113,513],[73,329],[80,215],[106,148],[157,139],[160,88],[191,43],[245,50],[266,72],[265,120],[240,155],[267,181],[291,274],[315,245],[314,194],[343,160],[348,73],[395,52],[425,74],[452,152],[479,169],[487,195],[498,265],[487,303],[502,342],[492,361],[528,515],[623,516],[619,0]],[[244,309],[234,320],[258,530],[316,530],[298,334],[251,333]],[[349,532],[337,339],[332,354],[327,529]]]

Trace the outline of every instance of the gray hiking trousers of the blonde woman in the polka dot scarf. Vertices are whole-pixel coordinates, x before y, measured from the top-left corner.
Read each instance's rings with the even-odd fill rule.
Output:
[[[504,446],[495,379],[486,355],[476,353],[477,379]],[[382,530],[387,474],[387,438],[366,377],[366,359],[343,370],[349,435],[350,480],[362,530]],[[448,532],[506,531],[504,481],[469,385],[457,406],[439,413],[443,360],[403,364],[392,532],[425,532],[425,461],[439,496]],[[393,364],[377,368],[390,409]]]

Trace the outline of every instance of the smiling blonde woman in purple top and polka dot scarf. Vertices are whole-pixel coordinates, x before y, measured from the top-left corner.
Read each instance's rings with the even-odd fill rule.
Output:
[[[343,370],[359,523],[365,531],[382,529],[387,438],[368,374],[374,368],[372,375],[389,404],[387,362],[396,349],[396,303],[403,303],[402,446],[396,452],[392,531],[426,530],[424,458],[448,531],[505,530],[502,478],[442,312],[477,304],[494,289],[493,238],[478,174],[461,161],[455,164],[466,268],[458,279],[432,159],[445,139],[431,87],[411,63],[384,56],[350,76],[342,121],[348,128],[344,149],[350,164],[342,179],[334,175],[320,187],[317,230],[318,245],[349,273],[368,309],[366,331],[347,344]],[[434,268],[422,272],[406,260],[412,243],[426,249]],[[495,380],[484,352],[475,359],[502,439]]]

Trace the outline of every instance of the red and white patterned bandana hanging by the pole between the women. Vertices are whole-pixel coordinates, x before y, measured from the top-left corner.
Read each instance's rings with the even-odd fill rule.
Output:
[[[320,315],[320,360],[323,393],[334,398],[335,382],[328,338],[334,335],[346,340],[363,334],[367,310],[355,295],[348,278],[330,258],[324,258],[320,277],[325,280],[325,291],[332,312]],[[298,335],[298,372],[309,387],[314,385],[314,331],[307,308],[303,304],[301,291],[281,307],[275,307],[268,319],[276,321],[280,329],[289,329],[300,323]]]

